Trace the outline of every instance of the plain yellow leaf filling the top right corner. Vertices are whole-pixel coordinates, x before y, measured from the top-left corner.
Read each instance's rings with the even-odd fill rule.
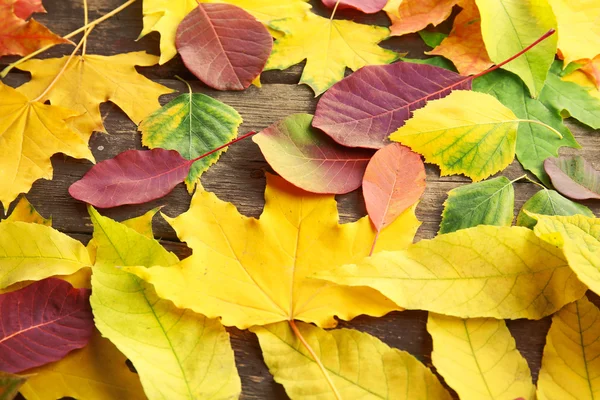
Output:
[[[558,50],[565,60],[592,59],[600,54],[600,2],[548,0],[558,22]]]

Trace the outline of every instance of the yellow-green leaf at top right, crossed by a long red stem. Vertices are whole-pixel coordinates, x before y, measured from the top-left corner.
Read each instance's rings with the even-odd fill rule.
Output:
[[[476,0],[476,3],[485,48],[496,64],[523,50],[550,29],[556,29],[556,17],[546,0]],[[533,98],[538,97],[544,86],[556,43],[556,35],[551,35],[502,67],[518,75]]]

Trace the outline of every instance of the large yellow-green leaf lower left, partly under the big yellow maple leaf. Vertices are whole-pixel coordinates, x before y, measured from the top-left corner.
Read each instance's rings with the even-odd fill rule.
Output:
[[[97,245],[90,298],[96,327],[127,356],[154,399],[229,399],[241,390],[229,335],[218,320],[176,308],[117,267],[172,266],[156,240],[90,207]]]

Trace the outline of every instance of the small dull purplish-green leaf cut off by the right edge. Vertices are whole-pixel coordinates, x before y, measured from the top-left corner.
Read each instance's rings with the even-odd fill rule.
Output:
[[[547,158],[544,168],[552,185],[574,199],[600,199],[600,172],[581,156]]]

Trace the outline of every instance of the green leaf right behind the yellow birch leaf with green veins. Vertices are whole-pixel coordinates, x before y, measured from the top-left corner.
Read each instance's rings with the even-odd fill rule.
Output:
[[[538,124],[519,124],[517,158],[523,168],[533,172],[544,184],[550,185],[544,171],[544,160],[556,157],[562,146],[580,148],[571,131],[563,124],[558,111],[548,109],[541,101],[532,99],[523,82],[510,72],[497,70],[473,81],[473,90],[489,93],[510,108],[517,117],[543,122],[556,129],[562,139]]]

